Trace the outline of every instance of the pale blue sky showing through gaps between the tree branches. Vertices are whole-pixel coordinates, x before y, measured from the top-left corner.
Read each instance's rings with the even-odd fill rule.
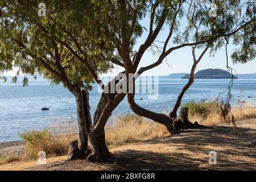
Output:
[[[146,18],[142,20],[142,26],[148,29],[149,26],[149,19]],[[182,30],[187,24],[186,19],[181,19],[181,27],[180,30]],[[135,46],[135,50],[138,50],[139,46],[146,40],[147,37],[147,31],[143,33],[141,38],[138,39],[138,42]],[[168,35],[168,27],[164,26],[163,30],[160,32],[158,38],[156,40],[165,40],[166,36]],[[169,46],[173,46],[172,43],[170,43]],[[233,49],[236,48],[230,41],[230,44],[228,45],[228,55],[229,55],[229,65],[233,69],[236,69],[238,74],[242,73],[256,73],[256,61],[250,61],[246,64],[233,64],[232,60],[230,58],[231,53],[233,52]],[[196,55],[200,55],[200,53],[203,50],[196,50]],[[139,67],[144,67],[146,65],[149,65],[151,63],[154,63],[157,60],[158,57],[152,55],[150,51],[146,51],[144,53],[144,56],[142,57],[141,64]],[[144,73],[144,75],[169,75],[171,73],[189,73],[191,70],[191,66],[193,64],[192,59],[192,51],[191,47],[184,47],[181,49],[177,49],[176,51],[172,52],[167,57],[168,64],[171,65],[171,67],[168,67],[168,64],[166,61],[164,61],[161,65],[158,67],[151,69],[150,71],[147,71]],[[219,69],[225,69],[226,70],[226,55],[225,55],[225,47],[222,47],[219,51],[217,51],[214,55],[214,57],[210,57],[209,51],[205,53],[203,59],[200,61],[199,65],[197,65],[196,71],[200,71],[202,69],[208,69],[208,68],[219,68]],[[14,71],[11,71],[7,73],[6,75],[15,75],[17,69],[14,68]],[[107,75],[103,76],[114,76],[117,75],[117,73],[123,71],[121,67],[116,67],[112,70],[111,73],[108,73]]]

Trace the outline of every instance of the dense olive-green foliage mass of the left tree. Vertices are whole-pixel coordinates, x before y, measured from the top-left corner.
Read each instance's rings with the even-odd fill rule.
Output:
[[[90,88],[94,82],[92,75],[61,42],[65,42],[83,59],[88,59],[96,74],[106,73],[113,68],[109,61],[113,52],[112,43],[102,35],[100,24],[92,19],[100,17],[100,4],[93,5],[91,1],[44,1],[47,16],[40,18],[37,12],[39,3],[1,0],[0,60],[5,65],[0,65],[0,73],[14,66],[27,75],[44,76],[53,84],[60,84],[67,78],[73,83],[82,81]],[[48,35],[42,27],[48,31]],[[60,73],[61,78],[42,64],[42,60],[53,71]],[[27,83],[25,77],[23,85]]]

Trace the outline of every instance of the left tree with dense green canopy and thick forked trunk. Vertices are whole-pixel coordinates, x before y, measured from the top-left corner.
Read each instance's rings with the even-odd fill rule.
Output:
[[[46,3],[48,16],[40,18],[36,8],[39,1],[1,1],[0,59],[28,75],[42,75],[54,84],[62,82],[77,101],[81,147],[75,151],[79,155],[74,155],[104,160],[110,153],[105,144],[105,124],[98,125],[98,121],[102,114],[108,115],[104,122],[108,120],[115,108],[115,94],[102,93],[92,124],[88,90],[94,81],[102,83],[98,75],[112,68],[111,61],[118,64],[112,57],[113,46],[92,21],[97,5],[90,5],[90,1]],[[88,5],[90,9],[84,9]],[[1,71],[6,69],[2,67]],[[112,111],[106,111],[106,106],[111,106]]]

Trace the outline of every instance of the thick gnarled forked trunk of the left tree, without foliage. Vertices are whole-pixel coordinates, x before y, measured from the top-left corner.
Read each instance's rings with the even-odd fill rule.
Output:
[[[119,80],[109,82],[109,84],[117,85]],[[87,90],[81,90],[76,92],[77,98],[77,115],[79,118],[79,134],[81,141],[81,158],[86,158],[91,162],[102,162],[111,156],[108,147],[105,142],[105,130],[104,127],[108,121],[112,111],[119,105],[119,103],[125,98],[124,93],[112,93],[110,100],[106,97],[106,94],[102,93],[98,106],[92,119],[90,118],[89,107],[89,92]],[[72,150],[70,154],[75,154],[73,158],[77,158],[77,154],[80,154],[80,149],[76,147],[76,142],[71,143]],[[75,148],[75,152],[73,150]],[[80,155],[79,155],[80,156]],[[70,158],[70,157],[69,157]]]

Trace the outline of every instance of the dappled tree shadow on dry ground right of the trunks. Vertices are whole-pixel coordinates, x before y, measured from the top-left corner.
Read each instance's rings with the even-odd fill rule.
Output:
[[[183,133],[152,139],[141,144],[176,146],[180,152],[122,151],[119,167],[123,169],[256,169],[256,130],[228,126],[185,130]],[[209,165],[209,151],[217,152],[217,165]],[[190,154],[185,154],[183,151]],[[157,151],[157,148],[156,150]],[[194,157],[195,155],[198,157]],[[204,154],[204,155],[200,155]],[[249,159],[249,160],[248,160]],[[134,164],[135,163],[135,164]],[[113,168],[115,169],[115,168]]]

